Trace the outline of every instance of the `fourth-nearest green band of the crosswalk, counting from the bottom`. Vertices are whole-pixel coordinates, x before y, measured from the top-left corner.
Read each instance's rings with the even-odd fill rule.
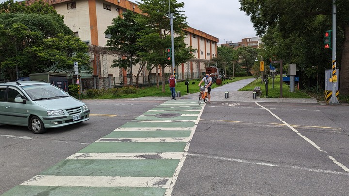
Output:
[[[191,131],[113,131],[103,138],[115,137],[189,137]]]

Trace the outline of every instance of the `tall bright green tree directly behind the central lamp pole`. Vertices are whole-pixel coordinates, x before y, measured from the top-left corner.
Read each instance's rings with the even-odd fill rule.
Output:
[[[138,44],[146,48],[147,52],[140,52],[143,61],[155,66],[160,65],[162,70],[162,91],[165,91],[165,67],[172,66],[172,61],[167,60],[166,48],[171,47],[171,31],[169,22],[169,1],[168,0],[143,0],[139,3],[142,15],[139,15],[138,22],[145,30],[141,31],[141,38]],[[170,10],[173,14],[174,30],[174,64],[179,66],[193,57],[191,47],[186,48],[184,43],[183,29],[187,28],[186,17],[182,14],[181,8],[184,3],[177,3],[170,0]]]

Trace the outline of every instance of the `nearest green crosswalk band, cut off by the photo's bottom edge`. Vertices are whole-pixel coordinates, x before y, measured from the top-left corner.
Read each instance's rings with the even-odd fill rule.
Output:
[[[1,196],[163,196],[165,188],[16,186]]]

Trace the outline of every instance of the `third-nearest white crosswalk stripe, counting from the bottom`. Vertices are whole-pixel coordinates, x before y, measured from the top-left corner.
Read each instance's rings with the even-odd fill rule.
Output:
[[[100,138],[95,142],[188,142],[189,137]]]

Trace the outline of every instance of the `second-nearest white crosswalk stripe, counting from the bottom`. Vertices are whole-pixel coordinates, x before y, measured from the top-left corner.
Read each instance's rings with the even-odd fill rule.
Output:
[[[147,153],[75,153],[66,159],[102,160],[141,160],[141,159],[181,159],[184,152],[147,152]]]

